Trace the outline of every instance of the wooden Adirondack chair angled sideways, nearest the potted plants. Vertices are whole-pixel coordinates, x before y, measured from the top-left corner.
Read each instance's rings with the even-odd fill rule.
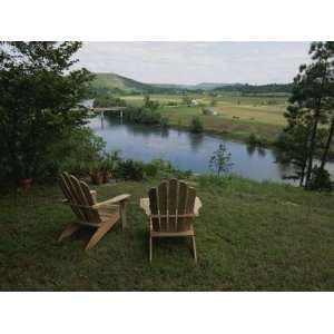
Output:
[[[59,242],[72,235],[80,226],[91,226],[97,228],[86,246],[86,249],[91,249],[119,219],[125,228],[126,202],[130,195],[124,194],[97,203],[97,193],[67,173],[60,175],[59,185],[66,197],[63,203],[71,207],[77,217],[61,233]]]

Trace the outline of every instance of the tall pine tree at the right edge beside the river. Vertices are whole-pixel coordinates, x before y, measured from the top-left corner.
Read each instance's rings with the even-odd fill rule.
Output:
[[[285,112],[288,122],[285,130],[293,136],[295,135],[295,139],[298,137],[298,145],[295,145],[295,150],[304,150],[302,153],[303,159],[306,155],[306,161],[303,160],[302,164],[302,183],[305,179],[306,189],[312,178],[314,158],[320,148],[317,145],[320,141],[318,128],[321,124],[324,125],[328,121],[328,108],[331,109],[328,102],[334,97],[333,61],[331,60],[333,52],[331,48],[331,42],[313,42],[311,45],[310,55],[313,61],[307,66],[299,67],[299,72],[294,78],[289,106]],[[296,127],[298,130],[295,130]],[[301,136],[302,128],[303,136]],[[330,144],[327,148],[330,149]],[[327,153],[324,159],[326,157]]]

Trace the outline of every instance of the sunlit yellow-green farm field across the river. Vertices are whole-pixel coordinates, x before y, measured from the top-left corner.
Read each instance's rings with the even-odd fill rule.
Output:
[[[234,138],[246,139],[250,134],[264,137],[267,141],[275,140],[285,126],[283,114],[287,106],[287,96],[240,96],[224,94],[215,98],[217,116],[204,116],[203,106],[210,106],[213,97],[208,94],[189,94],[198,106],[181,105],[180,95],[150,95],[153,100],[160,104],[160,111],[168,117],[169,124],[179,127],[189,127],[191,118],[198,116],[206,131],[228,134]],[[143,96],[122,97],[128,105],[141,106]],[[179,104],[167,106],[168,102]]]

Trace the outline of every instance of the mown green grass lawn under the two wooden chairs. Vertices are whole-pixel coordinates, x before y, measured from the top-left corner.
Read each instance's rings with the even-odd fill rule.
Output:
[[[139,208],[158,180],[98,188],[99,200],[130,193],[128,227],[115,226],[91,250],[90,230],[57,243],[72,219],[57,186],[0,197],[1,291],[333,291],[334,197],[233,178],[197,185],[198,264],[186,239],[155,243],[148,263]]]

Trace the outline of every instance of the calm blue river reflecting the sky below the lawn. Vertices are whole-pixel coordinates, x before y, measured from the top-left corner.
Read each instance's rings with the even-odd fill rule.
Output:
[[[96,117],[89,126],[106,140],[107,150],[120,149],[125,158],[143,161],[160,158],[181,170],[208,173],[210,156],[224,143],[232,154],[232,173],[256,180],[292,183],[284,179],[293,174],[292,166],[277,163],[271,148],[250,147],[216,135],[122,124],[119,118],[109,116]],[[328,166],[334,169],[334,164]]]

